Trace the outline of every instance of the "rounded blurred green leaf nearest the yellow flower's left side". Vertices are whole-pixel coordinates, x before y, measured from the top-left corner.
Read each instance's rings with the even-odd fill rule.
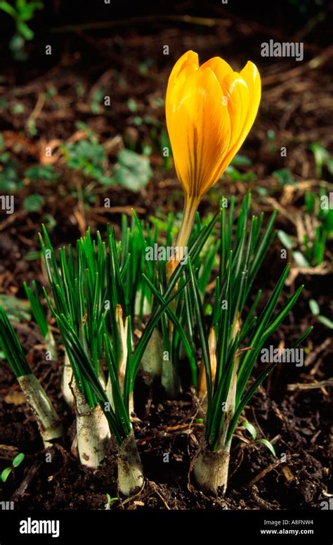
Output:
[[[147,186],[152,177],[150,162],[144,155],[131,150],[121,150],[115,165],[115,182],[130,191],[138,192]]]

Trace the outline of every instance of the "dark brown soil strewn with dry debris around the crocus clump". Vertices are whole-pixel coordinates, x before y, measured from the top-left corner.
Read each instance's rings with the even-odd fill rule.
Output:
[[[24,66],[11,63],[4,70],[1,96],[11,105],[24,104],[24,113],[11,115],[1,110],[1,127],[4,130],[4,147],[19,160],[20,175],[27,167],[38,164],[47,142],[79,139],[76,121],[84,121],[98,134],[108,150],[112,165],[126,136],[130,135],[136,150],[140,143],[152,145],[150,162],[154,177],[140,193],[124,188],[105,188],[89,181],[77,180],[77,174],[60,158],[57,162],[61,177],[58,182],[40,184],[27,182],[15,194],[15,213],[2,217],[0,224],[0,293],[25,298],[23,281],[44,283],[44,273],[39,259],[30,259],[39,252],[37,233],[45,214],[56,220],[51,238],[56,247],[74,242],[88,225],[93,232],[105,233],[110,222],[119,228],[122,212],[130,214],[135,207],[140,217],[151,214],[181,211],[182,191],[174,170],[162,168],[162,158],[157,143],[152,139],[147,124],[133,125],[133,114],[126,103],[135,97],[141,115],[164,124],[164,108],[156,99],[164,96],[167,77],[174,60],[186,49],[200,51],[204,59],[233,51],[230,63],[241,66],[252,58],[259,58],[263,70],[263,101],[255,129],[242,148],[242,154],[252,159],[256,179],[246,183],[224,181],[204,198],[200,205],[202,215],[214,212],[223,193],[244,195],[252,189],[254,212],[270,211],[277,206],[277,227],[295,234],[291,217],[303,206],[304,192],[317,191],[320,182],[315,177],[315,167],[308,145],[320,141],[332,146],[329,127],[329,87],[327,70],[332,56],[327,53],[325,27],[313,30],[306,37],[308,48],[304,63],[260,59],[259,44],[276,32],[283,37],[299,30],[283,27],[275,31],[270,26],[254,25],[233,13],[216,11],[226,23],[212,27],[186,25],[183,22],[168,25],[155,23],[150,29],[133,26],[112,31],[82,30],[53,34],[57,52],[48,63],[41,53],[43,41],[30,46],[30,59]],[[258,27],[259,25],[259,27]],[[222,32],[223,30],[223,32]],[[273,32],[273,34],[270,34]],[[294,35],[292,34],[292,35]],[[165,58],[157,51],[169,44],[172,54]],[[246,47],[244,47],[246,44]],[[250,55],[252,53],[252,55]],[[316,68],[308,63],[318,56]],[[148,73],[138,66],[152,59]],[[94,60],[93,60],[94,59]],[[271,60],[270,60],[271,61]],[[282,64],[283,63],[283,64]],[[117,77],[115,73],[117,72]],[[119,75],[122,82],[119,83]],[[37,136],[27,134],[27,119],[37,103],[38,96],[56,86],[58,101],[46,104],[36,116]],[[80,98],[75,90],[82,89]],[[100,86],[112,89],[112,113],[93,114],[89,107],[93,94]],[[15,89],[15,92],[13,92]],[[36,113],[36,112],[35,112]],[[276,134],[275,147],[287,146],[287,158],[270,150],[266,137],[268,129]],[[120,138],[120,140],[119,140]],[[117,140],[118,139],[118,140]],[[120,141],[120,144],[119,144]],[[56,146],[55,146],[56,149]],[[273,179],[276,169],[288,168],[296,177],[296,186],[282,186]],[[244,169],[245,172],[246,169]],[[327,172],[324,172],[327,179]],[[78,185],[79,184],[79,185]],[[326,182],[325,182],[326,184]],[[96,199],[89,207],[77,198],[78,188]],[[327,185],[327,188],[329,186]],[[263,193],[263,189],[266,190]],[[30,193],[44,196],[41,211],[26,212],[23,200]],[[112,198],[112,209],[102,210],[105,197]],[[275,241],[266,262],[256,279],[257,287],[268,295],[284,265],[276,255],[280,243]],[[327,244],[327,262],[332,264],[332,242]],[[110,444],[107,457],[98,470],[79,465],[74,440],[74,418],[59,395],[63,358],[59,362],[46,362],[37,326],[15,323],[20,341],[37,377],[46,388],[58,413],[63,416],[67,435],[63,444],[51,449],[51,461],[44,451],[37,426],[30,411],[22,402],[18,384],[6,365],[0,374],[0,461],[6,467],[18,452],[25,453],[25,461],[0,485],[0,501],[15,499],[17,509],[103,509],[106,494],[113,509],[292,509],[320,508],[327,501],[325,494],[332,492],[330,473],[332,454],[331,418],[332,402],[329,397],[329,362],[332,361],[332,339],[329,330],[315,323],[308,307],[313,298],[320,304],[321,313],[332,316],[332,271],[320,276],[295,275],[292,293],[300,283],[305,283],[303,297],[292,314],[273,338],[273,342],[288,339],[292,342],[300,331],[314,324],[307,341],[307,356],[301,368],[285,366],[272,375],[256,393],[246,417],[258,430],[258,439],[266,438],[275,447],[278,457],[258,441],[254,442],[242,427],[242,419],[233,440],[230,481],[226,497],[206,496],[195,489],[190,475],[190,464],[202,441],[200,410],[193,392],[185,391],[181,399],[165,399],[159,385],[145,386],[143,377],[136,385],[136,419],[133,423],[138,449],[146,477],[143,490],[129,499],[117,496],[115,474],[115,446]],[[285,454],[285,456],[283,456]]]

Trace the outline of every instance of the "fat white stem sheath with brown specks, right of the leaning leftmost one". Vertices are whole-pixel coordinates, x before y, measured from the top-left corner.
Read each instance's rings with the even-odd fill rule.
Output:
[[[98,468],[105,458],[110,428],[100,406],[91,409],[77,385],[74,385],[74,392],[79,458],[84,466]]]

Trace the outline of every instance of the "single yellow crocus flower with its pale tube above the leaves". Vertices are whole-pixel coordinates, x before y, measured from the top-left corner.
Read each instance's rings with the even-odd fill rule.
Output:
[[[185,206],[178,248],[185,248],[197,206],[221,177],[254,123],[261,79],[249,61],[240,72],[220,57],[199,66],[188,51],[174,65],[166,89],[166,125]]]

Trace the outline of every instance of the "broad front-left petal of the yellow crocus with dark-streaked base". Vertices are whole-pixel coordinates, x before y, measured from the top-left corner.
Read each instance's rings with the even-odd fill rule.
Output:
[[[174,85],[175,87],[177,84]],[[228,151],[230,118],[221,85],[210,68],[195,70],[176,89],[172,108],[166,108],[176,170],[187,195],[202,196]]]

